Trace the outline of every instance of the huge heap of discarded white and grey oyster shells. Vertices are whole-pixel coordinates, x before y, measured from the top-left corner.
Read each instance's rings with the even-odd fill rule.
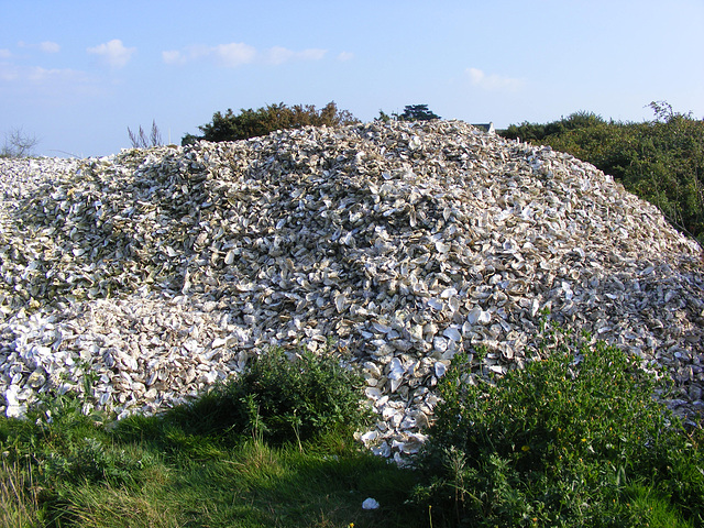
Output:
[[[703,407],[702,249],[592,165],[457,121],[0,160],[0,411],[85,391],[154,413],[282,346],[343,350],[380,454],[425,439],[459,351],[537,353],[541,312]]]

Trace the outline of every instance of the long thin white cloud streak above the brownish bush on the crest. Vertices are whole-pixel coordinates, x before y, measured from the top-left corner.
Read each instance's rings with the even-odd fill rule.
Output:
[[[191,61],[209,58],[226,68],[237,68],[245,64],[266,63],[279,65],[290,61],[320,61],[327,51],[318,48],[295,52],[282,46],[274,46],[258,52],[255,47],[242,42],[219,44],[217,46],[190,46],[183,52],[169,50],[162,52],[166,64],[185,64]]]

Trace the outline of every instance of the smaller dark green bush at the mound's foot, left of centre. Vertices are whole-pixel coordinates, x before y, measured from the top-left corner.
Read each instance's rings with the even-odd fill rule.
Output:
[[[351,436],[371,419],[361,403],[363,386],[362,376],[342,366],[339,355],[305,352],[292,361],[274,349],[169,419],[180,427],[193,420],[199,433],[254,436],[273,443]]]

